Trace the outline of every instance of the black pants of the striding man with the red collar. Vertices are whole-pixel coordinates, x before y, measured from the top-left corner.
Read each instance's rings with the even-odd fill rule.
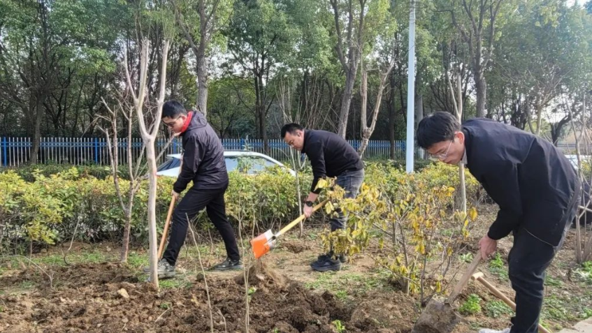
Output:
[[[187,218],[192,221],[203,207],[205,207],[208,217],[220,232],[222,239],[224,239],[226,255],[232,260],[240,259],[234,230],[226,217],[224,192],[226,192],[226,187],[215,190],[199,190],[194,186],[185,193],[185,196],[173,212],[171,236],[168,239],[168,245],[163,255],[163,258],[169,264],[175,265],[181,246],[183,246],[183,242],[187,237]]]

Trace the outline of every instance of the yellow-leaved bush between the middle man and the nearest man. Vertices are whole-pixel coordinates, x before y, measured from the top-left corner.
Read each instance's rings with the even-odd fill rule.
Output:
[[[396,284],[421,301],[441,293],[452,260],[463,250],[477,210],[479,184],[465,174],[467,214],[455,203],[459,168],[442,163],[407,175],[384,164],[366,167],[366,179],[355,199],[340,200],[342,188],[326,184],[332,206],[348,216],[347,229],[326,232],[324,244],[353,255],[373,245],[373,258],[391,272]],[[333,213],[335,214],[335,213]]]

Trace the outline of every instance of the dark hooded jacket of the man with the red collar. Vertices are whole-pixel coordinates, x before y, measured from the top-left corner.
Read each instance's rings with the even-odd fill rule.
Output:
[[[228,186],[224,147],[201,112],[193,112],[187,130],[182,133],[183,165],[173,189],[181,193],[193,181],[198,189]]]

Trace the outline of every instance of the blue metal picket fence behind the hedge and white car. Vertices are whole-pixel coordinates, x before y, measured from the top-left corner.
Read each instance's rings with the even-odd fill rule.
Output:
[[[157,151],[160,151],[167,140],[157,140]],[[349,140],[352,147],[358,149],[361,140]],[[132,158],[136,160],[142,151],[142,139],[133,138],[128,142],[126,138],[119,139],[117,149],[120,163],[127,163],[127,147],[131,145]],[[263,140],[222,139],[224,149],[237,150],[248,149],[265,153]],[[33,141],[31,138],[0,138],[0,163],[3,166],[18,166],[29,161]],[[395,157],[405,158],[405,141],[395,141]],[[179,154],[182,151],[180,140],[175,140],[166,148],[166,154]],[[370,140],[364,153],[364,158],[387,159],[390,158],[391,144],[388,140]],[[166,154],[163,155],[162,163]],[[268,155],[280,160],[287,160],[290,156],[290,148],[283,140],[269,140]],[[41,138],[41,146],[38,153],[38,163],[68,163],[85,164],[95,163],[106,165],[109,163],[107,142],[105,138]]]

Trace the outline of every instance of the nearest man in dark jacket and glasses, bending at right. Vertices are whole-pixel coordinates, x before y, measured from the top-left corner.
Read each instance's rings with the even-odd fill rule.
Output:
[[[471,119],[461,127],[447,112],[421,120],[417,143],[444,163],[465,164],[499,205],[479,255],[486,259],[498,239],[514,234],[508,263],[516,316],[511,328],[480,332],[537,332],[544,272],[577,211],[581,186],[570,161],[547,140],[513,126]]]

